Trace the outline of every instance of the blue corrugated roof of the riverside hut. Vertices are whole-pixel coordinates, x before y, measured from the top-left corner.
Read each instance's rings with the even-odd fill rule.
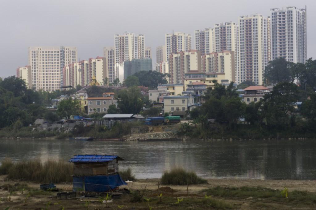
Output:
[[[116,155],[75,155],[69,162],[109,162],[116,159],[124,160]]]

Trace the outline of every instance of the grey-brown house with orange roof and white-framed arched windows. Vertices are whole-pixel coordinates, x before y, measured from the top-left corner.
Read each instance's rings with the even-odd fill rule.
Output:
[[[102,94],[102,97],[88,97],[88,114],[94,113],[107,113],[107,109],[110,105],[116,105],[114,99],[114,93],[106,92]]]

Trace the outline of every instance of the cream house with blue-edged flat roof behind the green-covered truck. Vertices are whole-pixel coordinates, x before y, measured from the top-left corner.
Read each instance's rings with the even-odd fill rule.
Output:
[[[191,91],[183,91],[182,96],[164,96],[164,113],[188,110],[188,107],[194,104],[192,94]]]

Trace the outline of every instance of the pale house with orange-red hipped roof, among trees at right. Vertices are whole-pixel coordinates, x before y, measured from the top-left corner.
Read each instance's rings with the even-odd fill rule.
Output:
[[[249,86],[245,88],[244,91],[243,100],[246,104],[258,102],[263,99],[264,94],[270,92],[270,90],[264,86]]]

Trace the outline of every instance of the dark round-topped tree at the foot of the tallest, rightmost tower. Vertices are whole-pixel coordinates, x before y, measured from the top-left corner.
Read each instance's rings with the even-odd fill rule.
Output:
[[[264,71],[264,84],[293,82],[294,78],[291,74],[292,65],[292,62],[286,61],[282,57],[269,61]]]

